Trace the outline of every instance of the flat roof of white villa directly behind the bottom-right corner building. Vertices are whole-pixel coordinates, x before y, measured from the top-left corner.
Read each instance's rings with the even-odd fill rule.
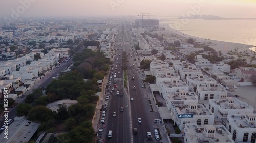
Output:
[[[233,106],[228,106],[226,104],[226,99],[228,100],[234,100]],[[242,102],[241,100],[233,97],[227,97],[226,99],[212,99],[212,103],[215,105],[219,105],[222,109],[251,109],[252,107],[249,106],[249,104]]]

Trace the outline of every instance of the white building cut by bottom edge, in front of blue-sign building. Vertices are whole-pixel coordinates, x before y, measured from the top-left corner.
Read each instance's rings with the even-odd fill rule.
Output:
[[[232,135],[224,125],[198,126],[195,123],[190,123],[185,125],[183,134],[185,143],[234,143]]]

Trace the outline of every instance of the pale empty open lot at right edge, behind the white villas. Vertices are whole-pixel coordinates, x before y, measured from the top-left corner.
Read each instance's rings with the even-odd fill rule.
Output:
[[[237,87],[237,89],[232,88],[231,93],[233,95],[239,95],[238,99],[248,103],[250,106],[254,107],[255,110],[256,86]]]

